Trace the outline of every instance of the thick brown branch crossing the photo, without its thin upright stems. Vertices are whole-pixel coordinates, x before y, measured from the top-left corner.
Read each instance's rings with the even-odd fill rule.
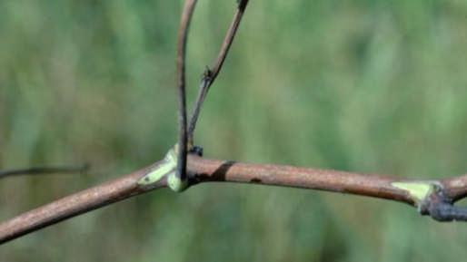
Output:
[[[189,155],[187,174],[190,185],[204,182],[236,182],[320,189],[350,193],[410,204],[422,215],[440,221],[466,220],[467,211],[453,206],[453,202],[467,195],[467,175],[447,180],[406,180],[391,176],[360,174],[338,170],[316,170],[281,165],[246,164],[234,161],[205,160]],[[85,189],[64,199],[28,211],[0,224],[0,244],[19,238],[40,228],[72,218],[93,209],[128,199],[152,189],[167,187],[166,177],[147,186],[138,183],[146,174],[157,169],[161,161],[151,167],[123,176],[91,189]],[[414,198],[411,190],[398,184],[431,185],[423,199]]]

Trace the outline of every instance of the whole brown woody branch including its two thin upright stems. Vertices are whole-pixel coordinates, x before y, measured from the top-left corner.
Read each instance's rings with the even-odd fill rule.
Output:
[[[193,146],[193,132],[201,104],[213,84],[234,40],[247,0],[238,2],[237,12],[214,66],[207,69],[201,82],[194,113],[187,130],[185,102],[185,53],[188,28],[196,0],[186,0],[178,34],[177,88],[179,97],[179,147],[176,166],[166,169],[166,161],[123,176],[91,189],[84,189],[64,199],[33,209],[0,224],[0,244],[19,238],[40,228],[128,199],[138,194],[160,189],[170,184],[175,171],[179,179],[187,176],[188,186],[203,182],[239,182],[303,189],[320,189],[350,193],[380,199],[392,199],[416,207],[422,215],[439,221],[467,220],[467,209],[453,203],[467,196],[467,175],[447,180],[404,180],[397,177],[366,175],[337,170],[314,170],[280,165],[257,165],[234,161],[204,160],[194,154],[187,157],[187,142]],[[188,132],[187,132],[188,131]],[[191,149],[191,148],[190,148]],[[149,184],[141,183],[151,174],[161,174]]]

